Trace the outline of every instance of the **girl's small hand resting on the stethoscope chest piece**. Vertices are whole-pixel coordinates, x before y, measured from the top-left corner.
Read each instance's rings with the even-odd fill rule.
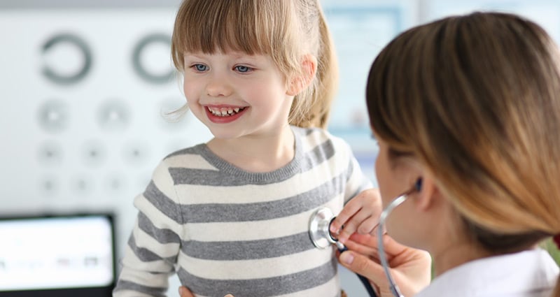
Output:
[[[337,234],[337,239],[343,244],[355,232],[374,235],[375,226],[377,226],[379,215],[381,215],[381,208],[379,189],[362,191],[346,203],[342,211],[330,224],[330,232]]]

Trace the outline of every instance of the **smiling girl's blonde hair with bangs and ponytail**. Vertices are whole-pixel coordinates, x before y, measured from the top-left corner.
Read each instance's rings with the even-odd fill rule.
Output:
[[[317,58],[316,78],[295,96],[288,122],[325,128],[338,82],[332,38],[318,0],[184,0],[172,36],[175,67],[186,52],[269,55],[290,81],[304,55]]]

